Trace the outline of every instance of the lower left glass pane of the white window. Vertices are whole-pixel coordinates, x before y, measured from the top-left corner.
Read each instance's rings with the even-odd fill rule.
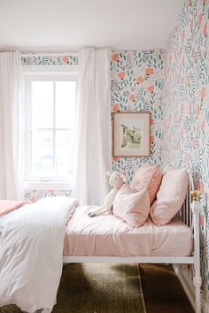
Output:
[[[52,131],[32,133],[32,173],[41,177],[55,174]]]

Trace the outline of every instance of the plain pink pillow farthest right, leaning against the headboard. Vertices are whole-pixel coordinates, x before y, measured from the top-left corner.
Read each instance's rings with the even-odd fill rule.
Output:
[[[182,208],[187,195],[189,177],[186,169],[171,170],[163,176],[157,200],[151,206],[151,220],[156,225],[166,225]]]

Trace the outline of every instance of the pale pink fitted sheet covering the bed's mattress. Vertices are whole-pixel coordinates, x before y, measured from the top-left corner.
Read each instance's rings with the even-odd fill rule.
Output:
[[[78,207],[66,228],[64,256],[190,256],[193,235],[180,218],[138,228],[113,215],[89,218],[96,208]]]

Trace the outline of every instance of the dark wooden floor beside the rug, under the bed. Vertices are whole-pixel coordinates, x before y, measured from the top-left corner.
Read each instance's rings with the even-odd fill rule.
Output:
[[[140,264],[147,313],[194,313],[171,265]]]

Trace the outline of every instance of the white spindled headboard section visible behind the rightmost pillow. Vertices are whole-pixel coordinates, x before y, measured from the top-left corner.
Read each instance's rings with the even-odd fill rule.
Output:
[[[182,209],[178,213],[178,216],[182,218],[182,221],[186,225],[193,228],[193,214],[191,211],[190,203],[191,203],[191,190],[194,190],[194,181],[193,181],[193,178],[189,169],[187,172],[189,176],[188,193],[187,193],[185,201],[183,202]]]

